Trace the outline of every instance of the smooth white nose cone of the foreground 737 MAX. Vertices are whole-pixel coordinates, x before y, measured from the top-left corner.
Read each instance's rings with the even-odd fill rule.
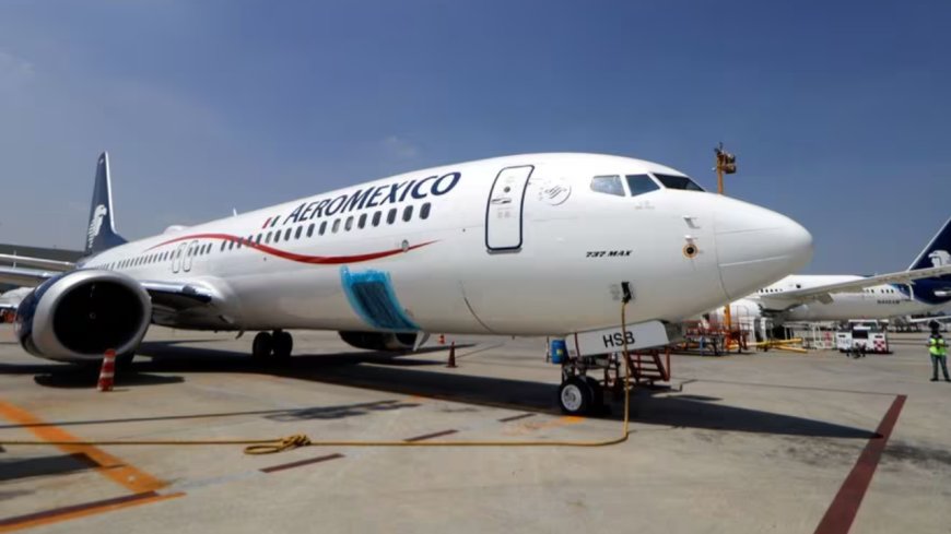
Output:
[[[796,272],[812,259],[812,235],[799,223],[736,199],[717,200],[717,262],[730,300]]]

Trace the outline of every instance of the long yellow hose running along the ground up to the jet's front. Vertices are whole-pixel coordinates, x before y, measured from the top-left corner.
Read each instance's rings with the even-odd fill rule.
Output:
[[[631,413],[631,359],[627,352],[627,323],[625,309],[621,305],[621,332],[624,346],[624,422],[621,435],[615,438],[595,441],[351,441],[312,440],[307,435],[295,434],[277,439],[198,439],[198,440],[89,440],[89,441],[42,441],[42,440],[0,440],[0,446],[245,446],[245,454],[273,454],[302,447],[608,447],[627,441],[630,436]]]

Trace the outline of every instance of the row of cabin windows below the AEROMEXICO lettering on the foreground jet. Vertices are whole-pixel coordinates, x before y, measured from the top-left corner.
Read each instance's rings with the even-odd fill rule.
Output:
[[[420,206],[419,217],[421,219],[430,218],[430,211],[432,210],[432,204],[426,202]],[[402,215],[399,213],[399,209],[391,207],[388,212],[386,212],[386,224],[391,225],[397,222],[397,217],[401,217],[403,222],[409,223],[413,218],[413,206],[408,205],[403,207]],[[267,234],[261,233],[257,236],[248,236],[246,239],[237,239],[237,240],[225,240],[221,242],[220,251],[224,251],[225,249],[232,250],[234,248],[242,248],[244,245],[255,244],[260,245],[263,242],[265,245],[271,242],[279,242],[282,239],[284,241],[290,241],[293,239],[301,239],[304,235],[307,237],[314,237],[314,233],[316,232],[318,236],[322,236],[327,234],[329,230],[332,234],[337,234],[341,230],[341,226],[344,232],[350,232],[354,229],[354,226],[357,229],[366,228],[369,226],[379,226],[383,224],[384,212],[377,211],[373,214],[361,213],[360,215],[350,215],[345,219],[336,218],[333,223],[328,224],[327,221],[322,221],[318,226],[316,223],[310,223],[309,226],[306,227],[306,230],[303,225],[297,226],[296,228],[291,227],[283,230],[271,230]],[[211,252],[212,245],[210,242],[204,244],[198,248],[188,247],[185,249],[184,254],[188,257],[198,257],[198,256],[207,256]],[[117,261],[113,263],[107,263],[104,265],[105,269],[110,271],[117,269],[129,269],[139,265],[148,265],[152,263],[158,263],[163,261],[173,260],[183,256],[183,249],[167,250],[165,252],[155,252],[154,254],[145,254],[137,258],[130,258],[128,260]]]

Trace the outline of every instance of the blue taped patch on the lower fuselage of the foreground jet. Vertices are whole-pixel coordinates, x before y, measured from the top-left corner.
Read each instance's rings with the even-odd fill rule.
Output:
[[[400,307],[388,273],[374,270],[351,273],[343,266],[340,282],[350,306],[371,327],[397,332],[420,330]]]

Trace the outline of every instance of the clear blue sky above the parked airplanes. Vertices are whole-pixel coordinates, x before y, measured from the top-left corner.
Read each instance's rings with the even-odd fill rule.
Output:
[[[951,3],[0,3],[0,242],[79,248],[431,165],[631,155],[911,263],[951,216]]]

